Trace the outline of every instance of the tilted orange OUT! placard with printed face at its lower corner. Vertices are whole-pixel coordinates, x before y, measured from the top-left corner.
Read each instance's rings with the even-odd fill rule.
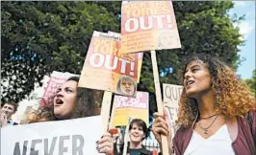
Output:
[[[121,55],[117,40],[114,34],[94,31],[79,87],[136,96],[139,55]]]

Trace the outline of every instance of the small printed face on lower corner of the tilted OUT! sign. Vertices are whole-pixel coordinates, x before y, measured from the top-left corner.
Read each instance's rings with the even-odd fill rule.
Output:
[[[136,95],[137,83],[132,77],[121,76],[117,82],[117,93],[124,96],[134,97]]]

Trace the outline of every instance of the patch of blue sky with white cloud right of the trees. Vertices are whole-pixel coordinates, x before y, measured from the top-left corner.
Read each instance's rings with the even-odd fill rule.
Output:
[[[239,47],[240,55],[245,58],[238,68],[237,74],[244,78],[251,78],[252,71],[255,69],[255,1],[234,1],[235,6],[229,14],[236,13],[238,16],[245,14],[245,20],[236,23],[234,26],[240,28],[243,34],[245,45]]]

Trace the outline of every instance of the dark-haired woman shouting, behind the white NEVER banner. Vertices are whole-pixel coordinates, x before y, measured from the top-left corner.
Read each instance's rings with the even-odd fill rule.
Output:
[[[69,77],[58,88],[49,107],[40,107],[27,122],[60,121],[97,115],[93,90],[77,87],[79,77]],[[31,115],[31,114],[28,114]]]

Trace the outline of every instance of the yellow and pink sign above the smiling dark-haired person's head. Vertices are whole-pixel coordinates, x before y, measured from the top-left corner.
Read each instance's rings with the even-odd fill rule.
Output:
[[[136,98],[115,96],[111,127],[125,126],[128,119],[141,119],[148,125],[148,93],[137,92]]]

